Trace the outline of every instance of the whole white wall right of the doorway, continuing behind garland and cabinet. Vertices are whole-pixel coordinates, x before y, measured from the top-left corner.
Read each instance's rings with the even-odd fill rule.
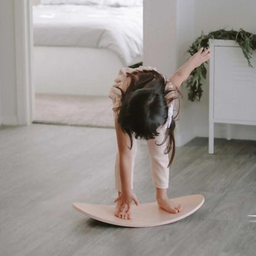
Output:
[[[245,3],[246,2],[246,3]],[[156,66],[170,76],[186,62],[191,42],[210,31],[244,30],[256,33],[255,0],[159,0],[144,1],[144,62]],[[209,76],[209,73],[207,74]],[[184,83],[180,90],[183,100],[177,122],[177,145],[193,137],[208,137],[209,82],[203,86],[201,102],[191,103]],[[215,137],[225,137],[224,124],[215,124]],[[231,126],[232,138],[256,140],[255,126]]]

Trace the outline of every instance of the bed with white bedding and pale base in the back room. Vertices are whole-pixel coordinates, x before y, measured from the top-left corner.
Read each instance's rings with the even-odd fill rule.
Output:
[[[142,63],[138,0],[41,1],[33,6],[36,93],[108,95],[119,68]]]

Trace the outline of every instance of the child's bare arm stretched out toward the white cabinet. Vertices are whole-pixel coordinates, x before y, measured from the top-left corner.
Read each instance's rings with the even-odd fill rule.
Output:
[[[179,88],[181,84],[188,79],[188,76],[190,76],[190,73],[194,70],[194,68],[197,68],[202,63],[209,60],[212,52],[210,52],[210,49],[202,52],[203,49],[204,48],[202,47],[196,54],[191,56],[190,59],[183,64],[169,79],[169,81],[172,82],[175,87]]]

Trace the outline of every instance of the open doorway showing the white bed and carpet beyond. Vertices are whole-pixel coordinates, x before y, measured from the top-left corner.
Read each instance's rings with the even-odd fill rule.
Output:
[[[76,4],[75,0],[72,5],[65,2],[33,1],[33,71],[36,94],[33,122],[113,126],[111,102],[108,98],[113,80],[122,66],[136,68],[142,65],[142,0],[134,1],[134,6],[112,6],[106,0],[106,5],[103,5],[103,1],[95,1],[98,4],[89,1],[90,6]],[[109,2],[113,4],[113,1]],[[97,26],[92,30],[95,19]],[[86,31],[86,22],[90,22],[89,31]],[[103,25],[99,28],[100,22]],[[114,27],[114,32],[109,33],[113,24],[118,23],[120,27]],[[120,39],[121,36],[124,38]],[[108,42],[114,39],[114,47],[107,47]],[[98,47],[92,45],[95,42]],[[130,46],[133,46],[133,52],[127,50]],[[92,110],[98,111],[92,113]],[[95,116],[108,118],[95,123]]]

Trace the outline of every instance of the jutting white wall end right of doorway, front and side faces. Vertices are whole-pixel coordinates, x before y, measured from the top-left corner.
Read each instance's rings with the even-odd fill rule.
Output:
[[[194,38],[194,1],[144,1],[143,8],[143,65],[155,66],[169,78],[190,57],[186,50]],[[184,98],[177,121],[177,146],[194,137],[193,104],[182,87],[181,92]]]

